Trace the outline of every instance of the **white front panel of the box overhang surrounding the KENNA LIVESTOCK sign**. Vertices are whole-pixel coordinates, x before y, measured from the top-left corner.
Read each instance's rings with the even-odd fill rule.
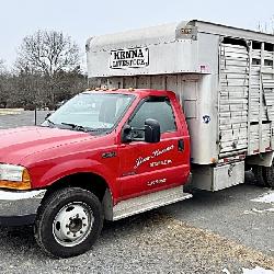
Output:
[[[117,77],[117,76],[141,76],[141,75],[165,75],[181,72],[203,72],[208,67],[206,64],[198,62],[197,42],[192,39],[173,41],[160,44],[148,44],[147,37],[140,38],[137,44],[140,47],[148,48],[149,60],[144,67],[112,68],[110,66],[111,53],[113,49],[128,49],[128,43],[125,41],[113,45],[113,49],[94,49],[87,53],[89,77]],[[136,45],[136,46],[137,46]],[[164,53],[164,54],[163,54]],[[178,58],[180,56],[180,58]],[[122,58],[122,57],[121,57]],[[172,60],[172,61],[171,61]],[[123,61],[121,59],[119,61]]]

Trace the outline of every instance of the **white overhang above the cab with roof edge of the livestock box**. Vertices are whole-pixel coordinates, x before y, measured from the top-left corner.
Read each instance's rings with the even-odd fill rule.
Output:
[[[87,42],[89,77],[213,72],[220,36],[274,44],[271,34],[197,20],[107,34]]]

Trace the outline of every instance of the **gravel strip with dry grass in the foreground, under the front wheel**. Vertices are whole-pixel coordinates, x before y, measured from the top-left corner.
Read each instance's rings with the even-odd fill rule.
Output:
[[[93,249],[53,260],[37,248],[30,227],[0,232],[2,273],[241,273],[274,259],[159,210],[105,225]]]

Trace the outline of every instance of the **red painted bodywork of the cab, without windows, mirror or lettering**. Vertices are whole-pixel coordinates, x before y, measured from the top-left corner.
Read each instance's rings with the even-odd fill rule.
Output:
[[[107,92],[107,91],[106,91]],[[136,99],[109,135],[92,136],[88,133],[48,127],[21,127],[0,132],[0,162],[21,164],[28,169],[32,187],[46,187],[61,178],[79,172],[101,175],[107,183],[114,203],[149,192],[184,184],[190,174],[190,136],[184,115],[175,94],[156,90],[117,90],[112,93],[135,94]],[[144,98],[168,96],[171,101],[178,132],[161,135],[159,144],[133,141],[122,144],[122,129]],[[179,151],[178,141],[184,140]],[[146,158],[156,150],[173,147],[169,151],[136,165],[139,157]],[[104,152],[116,157],[102,158]],[[151,162],[171,160],[164,165],[150,167]],[[164,179],[164,183],[155,183]],[[92,182],[87,182],[91,183]]]

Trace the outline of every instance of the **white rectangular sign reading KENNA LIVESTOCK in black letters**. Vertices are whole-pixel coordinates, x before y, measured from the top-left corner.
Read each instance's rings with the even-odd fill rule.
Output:
[[[111,69],[144,68],[148,65],[149,49],[147,47],[111,50]]]

